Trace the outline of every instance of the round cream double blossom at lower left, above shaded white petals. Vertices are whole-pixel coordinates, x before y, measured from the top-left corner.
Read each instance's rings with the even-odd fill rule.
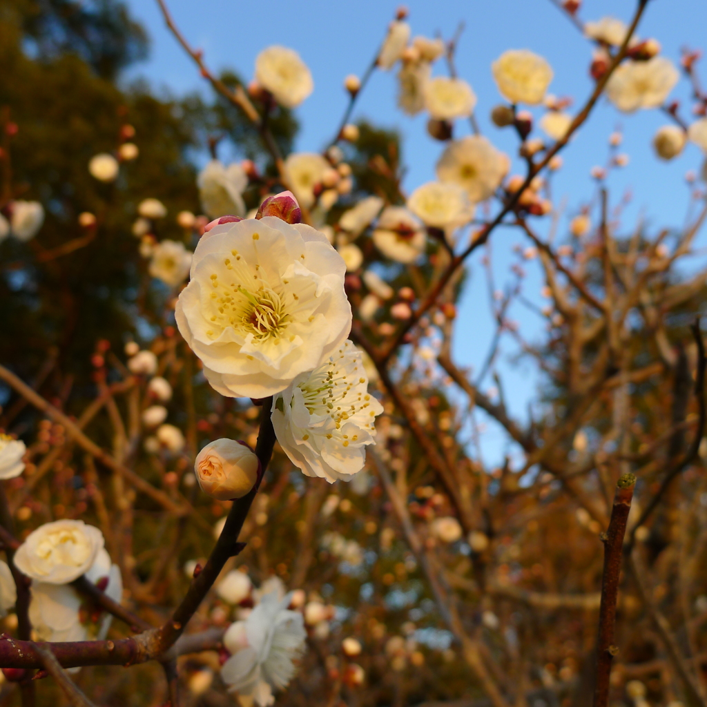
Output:
[[[83,520],[55,520],[30,532],[15,564],[37,582],[66,584],[93,566],[103,543],[103,533]]]

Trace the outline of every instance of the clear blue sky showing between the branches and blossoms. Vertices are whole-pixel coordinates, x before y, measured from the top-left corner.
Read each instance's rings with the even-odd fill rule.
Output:
[[[182,94],[199,90],[204,85],[191,60],[177,46],[161,19],[156,1],[128,0],[127,4],[151,37],[151,54],[146,62],[131,70],[127,78],[146,78],[154,88]],[[204,58],[213,70],[236,69],[250,78],[257,53],[273,44],[293,47],[310,66],[315,81],[314,93],[298,108],[302,132],[297,148],[317,151],[334,131],[346,105],[341,83],[346,74],[361,74],[385,34],[387,23],[397,3],[381,0],[359,0],[356,3],[333,3],[322,0],[293,3],[286,0],[236,3],[234,0],[170,0],[170,10],[177,25],[194,47],[204,50]],[[612,14],[628,20],[636,3],[626,0],[585,0],[580,16],[595,20]],[[551,92],[569,95],[578,110],[590,93],[588,76],[591,47],[578,30],[549,0],[414,0],[407,3],[413,34],[450,37],[460,22],[464,31],[457,51],[457,70],[471,83],[479,99],[477,115],[482,132],[496,146],[511,156],[517,153],[517,141],[510,131],[500,131],[489,122],[491,107],[500,96],[491,78],[490,66],[506,49],[527,48],[542,54],[554,69]],[[638,33],[655,37],[663,54],[677,62],[680,48],[701,47],[706,39],[707,2],[704,0],[651,0]],[[707,48],[707,47],[703,47]],[[438,66],[443,71],[443,66]],[[705,74],[707,82],[707,69]],[[689,88],[681,80],[673,96],[686,99]],[[689,117],[683,110],[684,117]],[[537,115],[540,115],[539,113]],[[403,157],[407,167],[404,187],[408,190],[431,180],[434,165],[441,152],[440,143],[425,132],[423,116],[410,119],[395,107],[394,72],[377,72],[356,108],[356,117],[368,117],[378,124],[397,127],[404,139]],[[655,233],[663,226],[682,224],[688,199],[684,183],[686,170],[699,170],[702,156],[698,148],[688,146],[682,156],[666,164],[660,162],[650,148],[655,130],[667,123],[658,111],[622,115],[602,100],[590,122],[563,153],[564,167],[554,177],[556,205],[566,201],[566,217],[561,221],[563,233],[569,216],[578,205],[590,199],[594,185],[589,172],[603,163],[607,155],[607,137],[617,127],[624,129],[621,151],[630,157],[629,165],[609,179],[614,204],[627,189],[633,193],[626,209],[625,226],[645,218]],[[515,161],[516,170],[520,164]],[[538,221],[539,230],[543,229]],[[493,264],[497,286],[508,281],[508,267],[515,262],[513,245],[524,243],[520,234],[509,229],[493,235]],[[705,245],[699,242],[698,245]],[[473,260],[471,279],[460,311],[455,349],[457,360],[465,366],[479,368],[486,356],[493,334],[488,315],[486,282]],[[527,267],[526,296],[539,302],[540,281],[534,264]],[[530,339],[542,335],[539,317],[517,308],[511,312],[520,321],[522,332]],[[506,345],[506,357],[513,346]],[[501,370],[506,380],[506,397],[510,409],[520,417],[527,414],[537,378],[532,368],[510,366],[504,359]],[[490,384],[489,384],[490,385]],[[486,435],[484,447],[498,451],[498,437],[493,430]]]

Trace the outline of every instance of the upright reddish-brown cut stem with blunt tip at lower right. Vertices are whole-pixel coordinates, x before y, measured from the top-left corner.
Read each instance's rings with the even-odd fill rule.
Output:
[[[609,674],[612,670],[614,655],[619,648],[614,645],[614,628],[617,618],[617,595],[621,576],[621,557],[623,556],[626,521],[631,510],[633,486],[636,477],[624,474],[618,483],[614,496],[612,518],[609,521],[604,540],[604,573],[602,574],[602,600],[599,609],[599,638],[597,639],[597,672],[594,691],[594,707],[607,707],[609,704]]]

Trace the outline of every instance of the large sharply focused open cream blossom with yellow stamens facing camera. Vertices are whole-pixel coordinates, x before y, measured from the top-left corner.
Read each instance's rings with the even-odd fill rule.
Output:
[[[303,223],[223,223],[197,245],[177,326],[221,395],[274,395],[349,335],[345,271],[325,235]]]

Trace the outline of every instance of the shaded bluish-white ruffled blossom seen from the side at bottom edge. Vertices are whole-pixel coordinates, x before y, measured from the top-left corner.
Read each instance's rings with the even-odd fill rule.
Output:
[[[287,608],[290,600],[290,594],[280,600],[269,592],[243,624],[232,624],[223,637],[233,653],[221,668],[223,682],[259,707],[271,705],[273,691],[287,686],[295,674],[293,661],[305,650],[302,614]]]

